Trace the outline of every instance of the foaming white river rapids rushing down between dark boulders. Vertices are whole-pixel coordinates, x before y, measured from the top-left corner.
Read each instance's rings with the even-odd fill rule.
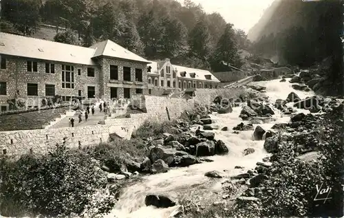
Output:
[[[266,96],[270,97],[270,102],[274,103],[276,99],[281,98],[285,100],[294,91],[301,99],[312,96],[312,91],[298,91],[292,88],[292,84],[280,83],[279,79],[255,82],[251,84],[261,85],[266,87]],[[288,104],[290,106],[290,104]],[[292,104],[291,104],[292,105]],[[270,122],[268,124],[259,124],[263,129],[268,130],[273,124],[277,122],[289,122],[288,116],[281,117],[281,113],[275,110],[274,118],[276,122]],[[219,156],[215,155],[207,157],[213,162],[206,162],[202,164],[195,164],[184,168],[172,168],[167,173],[160,173],[157,175],[147,175],[143,177],[143,182],[133,184],[122,191],[122,195],[116,207],[105,218],[167,218],[171,215],[171,212],[178,206],[171,208],[155,208],[153,206],[145,206],[144,198],[147,194],[165,194],[167,196],[174,197],[173,199],[180,199],[183,195],[187,195],[189,190],[195,188],[197,190],[203,190],[204,193],[212,192],[220,188],[219,184],[223,179],[218,179],[219,182],[215,186],[206,186],[209,179],[204,176],[204,173],[208,171],[226,171],[226,175],[237,175],[239,173],[245,173],[248,169],[255,168],[257,162],[261,162],[261,159],[268,156],[268,153],[264,150],[264,140],[255,141],[252,140],[253,131],[240,131],[239,134],[233,133],[233,127],[243,122],[239,118],[241,107],[234,107],[233,113],[211,115],[211,118],[215,120],[215,124],[219,126],[219,129],[213,130],[215,132],[215,139],[222,140],[228,146],[228,155]],[[309,113],[309,111],[300,110],[303,113]],[[246,123],[246,122],[244,122]],[[254,124],[254,127],[257,125]],[[221,131],[222,127],[228,127],[228,131]],[[246,148],[254,148],[255,153],[250,155],[242,155],[242,151]],[[244,166],[243,169],[235,169],[235,166]]]

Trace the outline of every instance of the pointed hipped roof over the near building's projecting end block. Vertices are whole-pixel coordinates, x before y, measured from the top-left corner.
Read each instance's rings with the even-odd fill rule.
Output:
[[[125,49],[124,47],[114,43],[111,40],[102,41],[100,43],[96,43],[92,45],[90,48],[96,50],[94,52],[94,58],[98,56],[109,56],[114,58],[122,58],[131,61],[140,61],[144,63],[150,63],[146,59],[130,52],[129,50]]]

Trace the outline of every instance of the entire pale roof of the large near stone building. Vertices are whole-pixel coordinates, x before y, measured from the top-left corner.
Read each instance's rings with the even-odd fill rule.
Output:
[[[0,54],[80,65],[96,65],[92,60],[96,56],[149,63],[146,59],[109,40],[91,47],[82,47],[4,32],[0,32]]]

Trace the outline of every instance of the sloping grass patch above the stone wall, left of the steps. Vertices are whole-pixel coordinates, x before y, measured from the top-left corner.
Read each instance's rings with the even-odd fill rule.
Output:
[[[0,116],[0,131],[43,129],[43,125],[50,124],[50,121],[60,118],[67,107],[49,109],[44,111],[32,111]]]

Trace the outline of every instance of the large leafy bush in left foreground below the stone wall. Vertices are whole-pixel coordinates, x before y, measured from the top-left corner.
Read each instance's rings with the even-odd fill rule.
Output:
[[[85,211],[90,205],[98,208],[93,212],[106,212],[114,205],[109,194],[92,199],[107,184],[97,162],[86,153],[69,151],[64,144],[41,157],[25,155],[15,162],[3,157],[0,170],[1,215],[65,217],[92,214]]]

